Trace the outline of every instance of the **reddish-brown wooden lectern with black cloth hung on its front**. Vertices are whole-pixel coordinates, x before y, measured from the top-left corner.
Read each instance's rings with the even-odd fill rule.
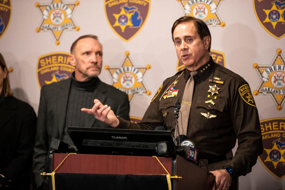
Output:
[[[67,154],[53,153],[50,155],[50,170],[64,160]],[[72,154],[58,167],[56,172],[61,173],[90,173],[90,174],[167,174],[180,176],[181,179],[172,179],[172,189],[212,189],[214,178],[208,172],[202,170],[194,163],[189,162],[181,156],[175,158],[151,156],[114,156],[114,155],[92,155]],[[50,171],[51,172],[51,171]],[[49,180],[49,183],[51,180]]]

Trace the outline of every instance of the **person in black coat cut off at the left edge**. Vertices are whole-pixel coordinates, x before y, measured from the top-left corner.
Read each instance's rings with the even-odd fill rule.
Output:
[[[9,71],[0,53],[0,189],[30,189],[37,115],[12,95]]]

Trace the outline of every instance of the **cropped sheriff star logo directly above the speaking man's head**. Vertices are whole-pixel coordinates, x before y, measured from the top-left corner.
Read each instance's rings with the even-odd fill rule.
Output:
[[[185,16],[193,16],[203,20],[208,26],[226,26],[217,10],[222,0],[189,1],[177,0],[185,12]]]

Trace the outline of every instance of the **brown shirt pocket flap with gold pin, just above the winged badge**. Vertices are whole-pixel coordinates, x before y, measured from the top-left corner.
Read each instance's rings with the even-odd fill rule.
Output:
[[[226,103],[222,100],[210,99],[210,98],[199,96],[197,103],[196,103],[196,108],[204,107],[207,110],[218,110],[220,112],[223,112],[225,104]]]

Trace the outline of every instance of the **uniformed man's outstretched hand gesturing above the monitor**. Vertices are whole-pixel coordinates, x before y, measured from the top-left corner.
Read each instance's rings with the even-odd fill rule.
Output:
[[[88,114],[93,114],[96,119],[110,125],[113,128],[116,128],[119,125],[119,119],[113,110],[111,110],[111,107],[108,105],[103,105],[98,99],[94,99],[94,106],[91,109],[82,108],[81,111]]]

